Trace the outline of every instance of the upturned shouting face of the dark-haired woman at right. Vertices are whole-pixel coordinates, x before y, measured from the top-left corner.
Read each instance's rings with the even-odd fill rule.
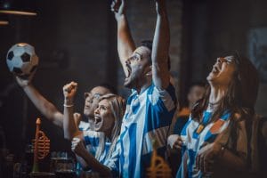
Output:
[[[214,85],[229,85],[236,70],[236,63],[233,56],[217,58],[212,71],[206,80]]]

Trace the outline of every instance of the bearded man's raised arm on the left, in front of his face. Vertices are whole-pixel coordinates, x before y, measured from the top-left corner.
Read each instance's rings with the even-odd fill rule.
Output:
[[[134,52],[135,44],[125,16],[125,0],[114,0],[111,4],[111,11],[114,12],[117,20],[117,53],[127,75],[125,61]]]

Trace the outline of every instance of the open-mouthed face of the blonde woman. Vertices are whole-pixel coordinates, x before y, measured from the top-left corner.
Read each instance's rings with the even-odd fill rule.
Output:
[[[115,123],[112,115],[109,100],[104,99],[98,103],[98,107],[94,109],[94,131],[110,134]]]

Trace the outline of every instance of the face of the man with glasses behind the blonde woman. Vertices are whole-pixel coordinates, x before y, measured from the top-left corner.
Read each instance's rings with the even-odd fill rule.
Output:
[[[107,88],[104,88],[102,86],[96,86],[94,87],[90,93],[85,93],[85,108],[84,108],[84,114],[85,117],[93,118],[93,111],[97,108],[99,98],[101,95],[104,95],[106,93],[109,93],[109,90]]]

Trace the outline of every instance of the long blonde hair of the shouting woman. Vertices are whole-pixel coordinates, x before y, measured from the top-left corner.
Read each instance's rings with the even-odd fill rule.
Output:
[[[113,125],[112,131],[111,131],[111,140],[110,140],[111,145],[110,145],[109,152],[107,155],[107,158],[110,158],[113,150],[115,149],[117,137],[120,133],[122,119],[123,119],[124,114],[125,114],[125,99],[121,96],[116,95],[116,94],[108,93],[108,94],[101,96],[100,101],[102,101],[102,100],[108,100],[109,101],[111,113],[114,117],[114,125]],[[97,151],[95,154],[95,158],[97,158],[97,159],[99,159],[101,157],[101,153],[104,150],[105,144],[103,143],[101,145],[102,145],[101,149],[99,151]]]

